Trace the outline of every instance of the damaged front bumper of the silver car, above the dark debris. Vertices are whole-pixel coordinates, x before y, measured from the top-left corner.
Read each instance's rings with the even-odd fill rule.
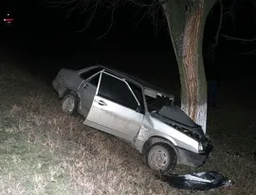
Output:
[[[185,149],[177,148],[178,164],[190,166],[193,168],[201,167],[205,164],[212,151],[212,145],[209,144],[204,153],[195,153]]]

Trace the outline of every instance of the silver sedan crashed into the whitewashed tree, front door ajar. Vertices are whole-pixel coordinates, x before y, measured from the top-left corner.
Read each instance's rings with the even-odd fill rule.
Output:
[[[204,165],[212,146],[202,127],[174,97],[132,76],[102,65],[78,71],[61,69],[52,81],[68,115],[113,134],[143,155],[150,168],[170,173],[177,164]]]

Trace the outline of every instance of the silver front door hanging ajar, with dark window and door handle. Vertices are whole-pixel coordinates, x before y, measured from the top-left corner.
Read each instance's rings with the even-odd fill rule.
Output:
[[[125,80],[102,72],[100,84],[84,124],[127,141],[136,137],[144,115]]]

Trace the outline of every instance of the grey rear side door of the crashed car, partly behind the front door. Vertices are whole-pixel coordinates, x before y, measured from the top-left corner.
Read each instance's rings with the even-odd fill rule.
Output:
[[[81,115],[87,117],[89,110],[92,106],[94,96],[96,94],[98,82],[100,80],[100,72],[82,80],[78,87],[78,93],[81,97]]]

